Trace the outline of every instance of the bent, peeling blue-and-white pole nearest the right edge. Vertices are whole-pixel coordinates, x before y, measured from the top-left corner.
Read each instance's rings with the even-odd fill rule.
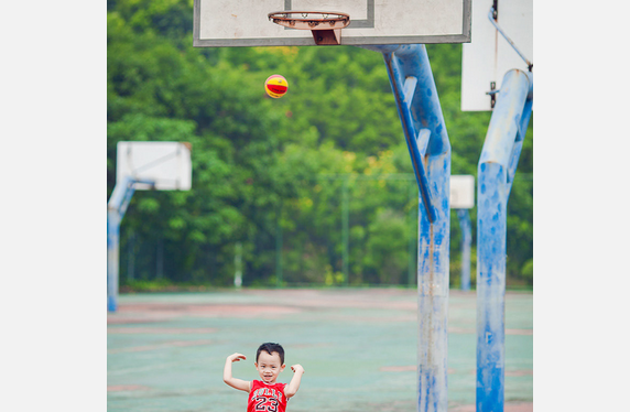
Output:
[[[477,411],[502,412],[507,206],[533,102],[531,73],[509,71],[478,166]]]

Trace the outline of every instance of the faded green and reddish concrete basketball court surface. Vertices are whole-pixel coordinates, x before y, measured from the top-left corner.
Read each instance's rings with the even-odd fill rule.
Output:
[[[506,412],[533,411],[533,299],[506,296]],[[222,382],[258,379],[263,341],[305,373],[287,412],[416,410],[417,295],[413,289],[224,290],[123,294],[108,314],[108,411],[245,412],[247,393]],[[452,290],[448,410],[475,411],[476,293]]]

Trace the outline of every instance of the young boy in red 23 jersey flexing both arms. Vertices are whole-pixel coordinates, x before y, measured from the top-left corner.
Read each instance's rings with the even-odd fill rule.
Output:
[[[247,412],[285,412],[286,401],[300,389],[304,373],[301,365],[293,365],[294,375],[289,384],[276,383],[280,372],[284,370],[284,349],[279,344],[262,344],[256,353],[253,366],[261,380],[245,381],[232,377],[232,362],[245,360],[245,355],[232,354],[226,359],[224,382],[235,389],[249,393]]]

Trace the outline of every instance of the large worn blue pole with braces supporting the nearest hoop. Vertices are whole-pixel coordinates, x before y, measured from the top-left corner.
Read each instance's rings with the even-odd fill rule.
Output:
[[[424,44],[376,45],[419,185],[417,411],[446,411],[450,143]]]

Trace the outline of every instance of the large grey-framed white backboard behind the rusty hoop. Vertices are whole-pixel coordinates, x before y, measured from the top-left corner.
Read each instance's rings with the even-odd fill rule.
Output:
[[[470,41],[471,0],[195,0],[193,45],[315,45],[309,30],[271,22],[278,11],[350,14],[340,44],[463,43]]]

